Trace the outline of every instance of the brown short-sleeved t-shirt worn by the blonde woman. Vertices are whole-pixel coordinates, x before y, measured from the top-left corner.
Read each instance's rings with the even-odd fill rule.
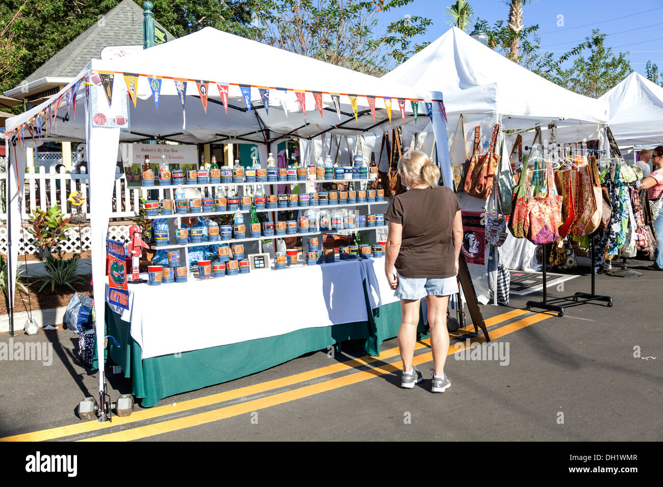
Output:
[[[385,218],[403,226],[398,274],[406,278],[455,276],[453,219],[460,203],[446,186],[410,189],[392,199]]]

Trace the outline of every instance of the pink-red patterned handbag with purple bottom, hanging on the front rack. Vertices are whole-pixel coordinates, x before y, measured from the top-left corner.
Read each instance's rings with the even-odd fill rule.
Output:
[[[558,231],[562,223],[562,197],[554,194],[554,178],[552,162],[546,165],[546,189],[544,197],[532,196],[531,187],[528,191],[527,209],[529,211],[530,231],[528,241],[535,245],[554,243],[560,238]]]

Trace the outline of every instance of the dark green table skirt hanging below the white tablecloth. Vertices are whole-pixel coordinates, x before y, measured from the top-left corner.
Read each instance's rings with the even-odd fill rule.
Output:
[[[369,307],[368,299],[366,303]],[[150,358],[141,357],[141,346],[131,337],[129,323],[108,305],[105,316],[107,335],[115,337],[120,345],[109,340],[109,362],[121,366],[125,377],[131,378],[131,394],[141,399],[144,407],[151,407],[168,396],[255,374],[348,340],[360,341],[366,354],[378,356],[381,343],[398,335],[400,302],[369,308],[368,321],[306,328],[277,337]],[[423,331],[420,319],[419,337],[424,336]],[[97,367],[96,360],[93,366]]]

